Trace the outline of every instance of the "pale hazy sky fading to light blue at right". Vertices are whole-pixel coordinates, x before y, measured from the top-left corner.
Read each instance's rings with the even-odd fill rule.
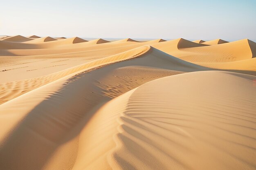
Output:
[[[1,0],[0,35],[256,40],[256,0]]]

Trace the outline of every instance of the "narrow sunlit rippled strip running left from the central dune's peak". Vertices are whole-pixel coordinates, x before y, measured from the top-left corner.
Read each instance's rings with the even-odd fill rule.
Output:
[[[53,82],[57,79],[70,75],[72,73],[76,73],[78,71],[82,71],[83,69],[93,68],[100,66],[102,64],[108,64],[110,62],[118,62],[119,60],[126,60],[131,57],[136,57],[148,51],[149,46],[143,46],[138,49],[133,49],[130,51],[126,51],[121,54],[117,54],[114,56],[106,57],[99,60],[94,60],[92,62],[88,62],[86,64],[81,64],[79,66],[74,66],[72,68],[68,68],[64,71],[59,71],[56,73],[52,73],[50,75],[45,75],[41,77],[36,77],[32,79],[25,79],[21,81],[7,82],[0,84],[0,104],[7,102],[13,98],[16,98],[28,91],[31,91],[35,88]],[[20,88],[22,86],[22,88]]]

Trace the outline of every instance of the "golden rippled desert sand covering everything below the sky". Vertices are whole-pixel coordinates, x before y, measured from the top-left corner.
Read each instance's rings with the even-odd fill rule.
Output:
[[[0,169],[256,169],[255,57],[247,39],[6,36]]]

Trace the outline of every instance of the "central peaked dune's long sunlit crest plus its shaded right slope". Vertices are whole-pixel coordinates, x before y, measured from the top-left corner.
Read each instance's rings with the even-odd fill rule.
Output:
[[[142,54],[143,59],[137,58],[133,61],[135,62],[135,64],[130,65],[153,66],[182,72],[209,70],[209,68],[180,60],[176,57],[163,53],[162,51],[154,49],[153,47],[150,48],[149,46],[142,46],[137,49],[132,49],[130,51],[119,53],[117,55],[112,55],[110,57],[94,60],[92,62],[81,64],[79,66],[74,66],[72,68],[68,68],[63,71],[59,71],[49,75],[2,83],[0,84],[0,104],[7,102],[13,98],[16,98],[17,96],[20,96],[24,93],[27,93],[28,91],[31,91],[35,88],[38,88],[57,79],[60,79],[61,77],[73,74],[75,72],[82,71],[84,69],[90,69],[92,67],[101,66],[104,64],[109,64],[112,62],[119,62],[122,60],[139,57]],[[146,60],[144,59],[145,57],[147,58]],[[165,63],[159,62],[158,60],[164,61]]]

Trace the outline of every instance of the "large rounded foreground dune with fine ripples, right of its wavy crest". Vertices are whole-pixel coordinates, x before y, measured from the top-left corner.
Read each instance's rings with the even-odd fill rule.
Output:
[[[110,104],[126,107],[105,106],[119,120],[113,130],[116,146],[107,155],[111,168],[254,169],[252,79],[227,72],[187,73],[157,79],[117,98],[117,104]]]

